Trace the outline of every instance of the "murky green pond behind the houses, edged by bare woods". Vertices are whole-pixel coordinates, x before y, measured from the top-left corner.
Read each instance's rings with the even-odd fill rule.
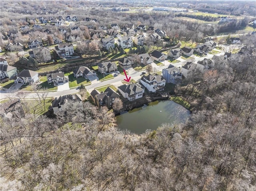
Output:
[[[162,123],[184,123],[189,116],[190,111],[183,106],[171,100],[162,100],[118,115],[116,122],[120,129],[142,134],[147,129],[157,129]]]

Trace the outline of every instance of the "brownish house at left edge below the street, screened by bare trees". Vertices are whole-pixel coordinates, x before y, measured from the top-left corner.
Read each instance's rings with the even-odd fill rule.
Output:
[[[4,102],[0,104],[0,116],[6,117],[8,119],[11,118],[22,118],[25,116],[24,110],[22,108],[20,99],[15,98],[11,99],[8,102]]]

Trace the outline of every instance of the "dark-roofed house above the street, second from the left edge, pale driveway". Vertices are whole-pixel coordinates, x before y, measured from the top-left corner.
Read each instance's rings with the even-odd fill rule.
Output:
[[[22,70],[14,77],[14,83],[34,84],[39,81],[38,73],[32,70]]]

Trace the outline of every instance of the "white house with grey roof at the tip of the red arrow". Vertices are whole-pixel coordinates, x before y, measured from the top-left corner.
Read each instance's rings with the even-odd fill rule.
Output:
[[[118,91],[122,94],[124,98],[127,98],[129,101],[134,101],[138,98],[142,98],[144,94],[144,87],[135,84],[125,84],[118,87]]]

